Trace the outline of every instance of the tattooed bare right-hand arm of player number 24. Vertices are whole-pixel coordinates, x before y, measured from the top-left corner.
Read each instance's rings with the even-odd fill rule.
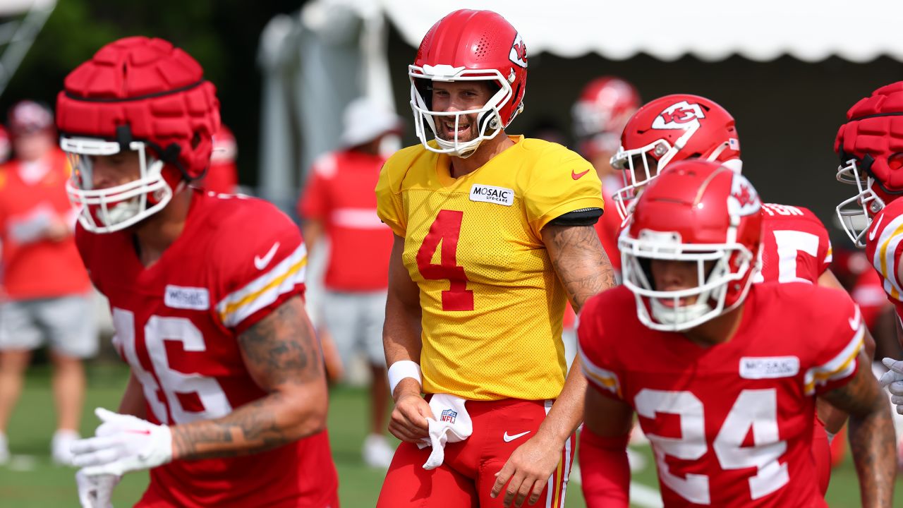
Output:
[[[859,371],[824,399],[850,412],[850,447],[859,475],[863,507],[890,506],[897,473],[894,426],[887,397],[860,355]]]

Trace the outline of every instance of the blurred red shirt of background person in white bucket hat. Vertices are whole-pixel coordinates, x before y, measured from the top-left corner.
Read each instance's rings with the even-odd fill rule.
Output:
[[[330,239],[324,286],[333,291],[388,287],[392,230],[377,217],[380,155],[345,150],[321,157],[298,202],[298,214],[323,223]]]

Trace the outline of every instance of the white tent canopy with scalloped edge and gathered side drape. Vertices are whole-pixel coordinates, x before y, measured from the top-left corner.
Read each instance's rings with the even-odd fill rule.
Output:
[[[531,54],[564,58],[903,61],[897,26],[903,0],[313,0],[298,14],[277,16],[262,36],[260,192],[287,202],[292,174],[336,147],[341,109],[351,99],[366,95],[393,105],[386,19],[416,47],[436,21],[461,8],[494,10],[517,28]],[[293,153],[294,124],[303,131],[300,156]]]

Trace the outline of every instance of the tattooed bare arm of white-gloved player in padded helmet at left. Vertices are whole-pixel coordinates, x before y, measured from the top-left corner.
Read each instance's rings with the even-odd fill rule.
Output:
[[[247,455],[282,446],[319,429],[311,423],[313,419],[305,408],[298,408],[298,398],[284,391],[317,390],[321,383],[325,405],[320,349],[303,315],[301,299],[286,301],[240,334],[238,343],[248,372],[268,394],[222,418],[173,426],[173,457]]]

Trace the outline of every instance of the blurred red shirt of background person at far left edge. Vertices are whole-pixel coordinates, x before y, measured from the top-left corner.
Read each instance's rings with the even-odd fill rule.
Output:
[[[33,240],[51,221],[74,222],[66,195],[69,165],[54,149],[36,164],[49,165],[34,182],[22,178],[22,163],[0,166],[0,239],[3,240],[3,287],[14,300],[72,295],[88,291],[88,274],[75,240]]]

